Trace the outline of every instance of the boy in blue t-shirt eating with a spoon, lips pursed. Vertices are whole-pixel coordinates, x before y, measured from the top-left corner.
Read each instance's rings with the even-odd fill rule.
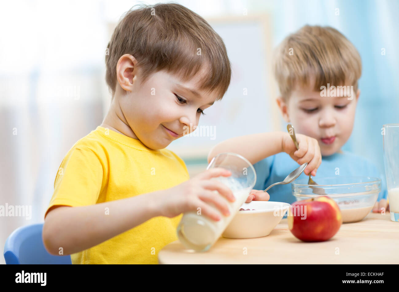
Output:
[[[322,163],[312,170],[312,176],[317,171],[319,178],[336,175],[382,177],[365,158],[341,150],[352,133],[361,75],[360,55],[346,37],[334,28],[304,26],[286,37],[277,48],[274,73],[280,89],[277,104],[284,120],[294,126],[296,133],[316,139],[320,146]],[[300,134],[296,134],[298,140],[306,137]],[[304,163],[304,159],[296,159],[297,152],[282,150],[284,145],[265,149],[265,141],[275,135],[284,135],[282,141],[289,140],[288,132],[231,138],[216,145],[208,160],[221,152],[243,155],[254,164],[257,173],[254,188],[265,189],[284,180],[298,163]],[[317,151],[317,147],[308,149],[309,154]],[[316,159],[315,156],[313,160]],[[307,178],[311,169],[308,167],[298,179]],[[291,184],[277,185],[269,190],[269,195],[271,201],[296,201]],[[374,212],[381,208],[388,211],[386,198],[385,181],[381,180]]]

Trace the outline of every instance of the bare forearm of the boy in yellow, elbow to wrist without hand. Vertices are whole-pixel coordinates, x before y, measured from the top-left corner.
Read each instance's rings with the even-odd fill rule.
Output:
[[[83,251],[156,216],[146,200],[153,193],[83,207],[54,206],[43,225],[43,243],[52,255]],[[109,215],[106,215],[109,208]]]

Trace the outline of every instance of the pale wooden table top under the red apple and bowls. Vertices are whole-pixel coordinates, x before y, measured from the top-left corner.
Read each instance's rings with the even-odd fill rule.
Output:
[[[287,219],[266,237],[221,237],[207,252],[184,249],[179,241],[158,254],[160,264],[399,264],[399,223],[369,213],[362,221],[342,224],[332,239],[305,243],[288,230]]]

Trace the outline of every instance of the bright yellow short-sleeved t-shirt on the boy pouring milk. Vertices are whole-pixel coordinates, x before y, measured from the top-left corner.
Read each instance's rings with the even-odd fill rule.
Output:
[[[87,206],[174,187],[189,179],[183,160],[140,140],[98,126],[67,153],[49,208]],[[45,216],[47,215],[47,211]],[[158,252],[177,240],[182,214],[158,216],[95,247],[71,255],[73,264],[157,264]]]

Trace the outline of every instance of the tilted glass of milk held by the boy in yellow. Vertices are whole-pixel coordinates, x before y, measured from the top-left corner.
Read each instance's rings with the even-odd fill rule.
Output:
[[[230,202],[223,196],[229,206],[230,215],[222,214],[219,221],[201,215],[200,209],[184,213],[177,228],[177,236],[186,248],[195,251],[207,251],[219,239],[241,205],[247,200],[256,182],[256,172],[252,164],[239,154],[221,153],[215,156],[207,170],[215,167],[225,168],[231,172],[229,177],[219,176],[211,180],[218,180],[227,185],[233,192],[235,201]],[[215,195],[221,196],[218,191],[214,192]]]

